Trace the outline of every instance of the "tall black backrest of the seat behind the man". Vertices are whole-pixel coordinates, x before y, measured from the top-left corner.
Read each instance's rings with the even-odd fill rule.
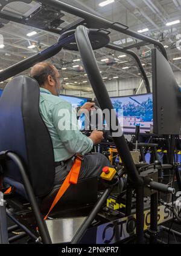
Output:
[[[0,152],[13,151],[24,162],[34,194],[42,197],[54,183],[54,152],[48,129],[39,112],[37,81],[16,76],[0,97]],[[21,182],[17,167],[10,161],[5,177]]]

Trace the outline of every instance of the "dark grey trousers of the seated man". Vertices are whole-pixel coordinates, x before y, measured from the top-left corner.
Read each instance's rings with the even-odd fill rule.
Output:
[[[112,167],[106,156],[100,153],[87,154],[81,161],[80,174],[78,180],[87,179],[90,177],[96,177],[100,180],[100,175],[104,166]],[[60,185],[68,176],[72,167],[72,160],[62,162],[61,165],[56,167],[56,177],[54,185]]]

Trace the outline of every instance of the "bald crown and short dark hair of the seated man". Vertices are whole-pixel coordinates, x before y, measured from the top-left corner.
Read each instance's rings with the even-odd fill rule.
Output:
[[[39,83],[39,86],[42,87],[45,85],[48,76],[56,76],[56,67],[48,62],[39,62],[31,68],[30,76],[34,77]]]

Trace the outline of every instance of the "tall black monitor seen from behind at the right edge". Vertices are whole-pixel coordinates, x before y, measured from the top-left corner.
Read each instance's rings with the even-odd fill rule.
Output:
[[[181,88],[174,78],[169,62],[153,48],[153,132],[156,134],[180,134]]]

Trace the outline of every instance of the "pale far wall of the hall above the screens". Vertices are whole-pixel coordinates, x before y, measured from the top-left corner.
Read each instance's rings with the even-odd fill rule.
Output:
[[[174,73],[177,83],[181,87],[181,71]],[[150,82],[150,87],[152,90],[152,78],[148,77],[148,80]],[[110,97],[116,97],[116,96],[127,96],[134,94],[134,89],[138,88],[140,85],[141,79],[140,78],[130,78],[130,79],[122,79],[122,80],[115,80],[106,82],[106,88],[109,93]],[[87,87],[87,85],[86,85]],[[144,83],[142,84],[141,89],[139,90],[138,94],[147,93],[145,90]],[[70,90],[64,90],[64,94],[66,95],[72,95],[72,96],[82,96],[82,97],[90,97],[94,99],[94,93],[84,93],[83,91],[70,91]]]

